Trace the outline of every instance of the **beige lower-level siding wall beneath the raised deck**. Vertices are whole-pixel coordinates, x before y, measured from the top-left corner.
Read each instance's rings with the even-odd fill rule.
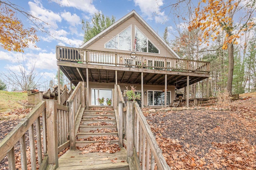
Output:
[[[92,96],[91,92],[92,89],[114,89],[115,83],[97,83],[97,82],[89,82],[89,105],[92,104]],[[136,91],[141,91],[141,85],[140,84],[118,84],[120,85],[120,88],[122,91],[126,90],[126,86],[128,86],[128,89],[130,90],[130,85],[134,85],[136,87]],[[147,95],[144,95],[144,101],[143,104],[145,106],[148,105],[148,91],[162,91],[164,89],[164,85],[144,85],[143,87],[144,91],[141,93],[141,95],[144,95],[144,92],[147,92]],[[173,102],[175,99],[175,86],[167,86],[167,89],[171,93],[171,99],[170,103]],[[155,106],[160,107],[160,106]]]

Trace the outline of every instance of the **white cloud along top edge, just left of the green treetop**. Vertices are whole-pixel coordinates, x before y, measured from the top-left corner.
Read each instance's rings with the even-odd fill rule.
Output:
[[[74,7],[83,12],[88,12],[91,15],[98,12],[98,10],[92,4],[92,0],[53,0],[53,1],[62,6]]]

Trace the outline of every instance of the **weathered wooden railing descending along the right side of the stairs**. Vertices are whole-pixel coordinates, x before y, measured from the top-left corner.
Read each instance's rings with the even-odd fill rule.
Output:
[[[114,101],[118,101],[118,107],[115,107],[115,111],[118,112],[118,139],[120,147],[126,145],[127,160],[133,158],[136,169],[169,170],[170,166],[166,163],[138,103],[128,101],[126,106],[119,89],[120,86],[115,85]]]

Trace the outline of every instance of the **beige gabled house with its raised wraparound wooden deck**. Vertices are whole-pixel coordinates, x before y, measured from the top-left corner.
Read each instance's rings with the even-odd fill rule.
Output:
[[[56,46],[56,58],[70,84],[86,82],[92,106],[113,98],[118,84],[122,92],[134,85],[141,107],[166,107],[175,89],[189,96],[188,85],[210,77],[209,62],[180,59],[134,10],[79,48]]]

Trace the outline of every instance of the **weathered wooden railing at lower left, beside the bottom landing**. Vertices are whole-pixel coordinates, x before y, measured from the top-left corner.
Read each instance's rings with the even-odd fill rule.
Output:
[[[27,169],[29,157],[32,170],[38,167],[46,169],[48,164],[58,167],[58,153],[69,145],[68,131],[68,107],[57,104],[56,100],[40,101],[0,142],[0,160],[7,155],[10,170]],[[26,148],[27,137],[29,152]],[[20,156],[14,152],[18,148]],[[21,163],[16,167],[18,157]]]

